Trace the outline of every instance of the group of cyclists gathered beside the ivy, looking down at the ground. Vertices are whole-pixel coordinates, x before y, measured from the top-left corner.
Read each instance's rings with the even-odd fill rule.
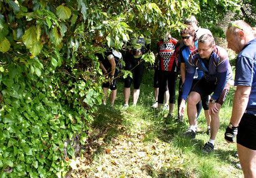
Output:
[[[164,100],[165,103],[169,100],[167,117],[173,115],[175,86],[180,70],[177,121],[183,121],[187,106],[190,126],[183,135],[195,138],[197,119],[204,108],[210,139],[205,143],[202,151],[210,153],[214,151],[215,138],[220,127],[220,108],[229,93],[230,83],[234,77],[227,51],[215,45],[210,30],[198,27],[194,16],[185,19],[185,24],[187,27],[180,31],[181,42],[167,33],[157,44],[156,56],[159,59],[159,65],[154,77],[155,103],[157,103],[154,107],[158,107],[160,111],[164,106]],[[244,176],[256,177],[256,77],[254,77],[256,32],[246,22],[235,21],[228,27],[226,36],[227,47],[234,50],[238,56],[234,79],[237,90],[230,123],[225,131],[225,140],[228,143],[234,143],[237,136],[237,151]],[[129,50],[130,57],[125,59],[125,69],[132,70],[134,75],[133,105],[136,105],[139,97],[143,71],[143,63],[140,63],[138,56],[148,50],[145,42],[142,41],[140,42],[142,47]],[[105,73],[104,70],[103,72]],[[111,67],[108,73],[110,77],[114,75]],[[129,106],[131,82],[131,78],[127,77],[124,85],[123,108]],[[169,96],[166,95],[167,92]]]

